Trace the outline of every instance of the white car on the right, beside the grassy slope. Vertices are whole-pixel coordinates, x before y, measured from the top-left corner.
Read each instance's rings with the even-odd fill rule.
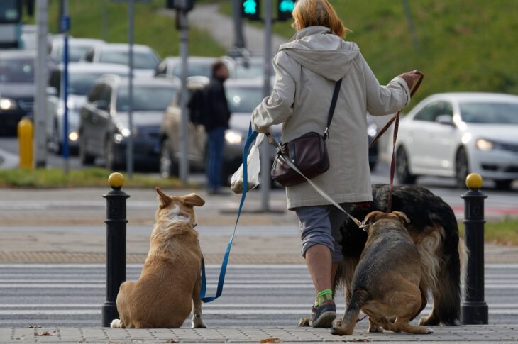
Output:
[[[400,183],[412,184],[429,175],[454,177],[458,187],[465,188],[471,172],[492,179],[498,189],[509,189],[518,179],[518,96],[435,94],[400,122],[396,145]]]

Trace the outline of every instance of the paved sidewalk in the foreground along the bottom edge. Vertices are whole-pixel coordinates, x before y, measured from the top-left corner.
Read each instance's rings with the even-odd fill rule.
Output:
[[[325,328],[0,328],[0,343],[509,343],[518,340],[517,325],[435,326],[431,335],[366,333],[337,337]]]

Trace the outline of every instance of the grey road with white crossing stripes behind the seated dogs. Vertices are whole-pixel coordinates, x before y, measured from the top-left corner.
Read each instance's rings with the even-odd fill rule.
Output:
[[[137,279],[140,270],[140,265],[128,265],[126,278]],[[218,275],[219,265],[210,265],[209,296]],[[0,276],[0,327],[101,325],[104,265],[0,265]],[[486,266],[489,323],[517,323],[517,276],[518,265]],[[218,328],[294,327],[299,318],[310,316],[313,297],[304,265],[231,265],[223,296],[203,306],[204,321]],[[343,293],[337,300],[338,314],[343,314]],[[431,304],[423,315],[430,309]]]

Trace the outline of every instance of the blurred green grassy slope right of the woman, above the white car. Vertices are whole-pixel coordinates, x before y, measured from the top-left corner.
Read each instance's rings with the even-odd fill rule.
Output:
[[[419,50],[412,44],[402,1],[331,2],[353,31],[347,40],[358,43],[382,84],[408,70],[424,72],[412,105],[437,92],[518,94],[518,1],[408,1]],[[228,1],[221,12],[231,13]],[[286,38],[294,33],[289,22],[275,23],[274,30]]]

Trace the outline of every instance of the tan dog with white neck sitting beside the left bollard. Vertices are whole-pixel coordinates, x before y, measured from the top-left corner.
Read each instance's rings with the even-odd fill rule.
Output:
[[[168,196],[156,188],[160,205],[150,238],[150,250],[136,282],[124,282],[117,295],[116,328],[179,328],[192,310],[192,327],[202,320],[202,250],[194,230],[197,194]]]

